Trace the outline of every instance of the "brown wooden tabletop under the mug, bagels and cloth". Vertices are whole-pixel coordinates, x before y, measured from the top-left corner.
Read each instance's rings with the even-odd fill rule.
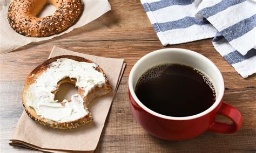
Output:
[[[218,66],[225,80],[224,102],[238,108],[244,121],[238,133],[231,135],[206,132],[183,142],[159,140],[147,134],[134,120],[129,108],[127,80],[134,63],[143,55],[163,47],[139,0],[110,0],[112,10],[84,27],[52,40],[31,43],[0,55],[1,152],[32,151],[12,147],[8,140],[14,132],[23,106],[21,91],[26,75],[46,60],[54,45],[92,55],[124,58],[127,63],[122,81],[105,123],[99,151],[132,152],[255,152],[256,151],[256,75],[243,79],[214,50],[212,39],[167,47],[187,48],[205,55]],[[3,37],[2,37],[3,38]],[[220,121],[228,121],[218,117]]]

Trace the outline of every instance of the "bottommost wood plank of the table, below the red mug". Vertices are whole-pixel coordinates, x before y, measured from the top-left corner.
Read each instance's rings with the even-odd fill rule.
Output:
[[[164,141],[150,134],[104,135],[96,152],[255,152],[255,130],[233,135],[204,133],[188,141]]]

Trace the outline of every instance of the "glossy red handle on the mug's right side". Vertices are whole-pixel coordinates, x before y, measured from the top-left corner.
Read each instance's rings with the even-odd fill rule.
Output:
[[[222,103],[217,114],[228,117],[228,119],[233,121],[233,124],[214,121],[208,131],[221,134],[233,134],[240,129],[242,125],[242,114],[233,106]]]

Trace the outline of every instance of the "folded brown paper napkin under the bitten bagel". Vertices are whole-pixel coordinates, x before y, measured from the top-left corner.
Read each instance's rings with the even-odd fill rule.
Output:
[[[59,47],[53,47],[49,58],[58,55],[77,55],[95,61],[106,73],[112,91],[90,103],[89,111],[94,120],[76,129],[61,130],[42,126],[23,111],[9,144],[42,151],[93,151],[99,142],[107,113],[122,77],[124,59],[97,57]]]

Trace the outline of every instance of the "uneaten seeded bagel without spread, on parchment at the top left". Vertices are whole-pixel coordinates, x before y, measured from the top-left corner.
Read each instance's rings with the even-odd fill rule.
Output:
[[[51,16],[38,18],[45,4],[52,4],[56,11]],[[7,16],[12,29],[19,34],[47,37],[75,23],[82,6],[81,0],[11,0]]]

